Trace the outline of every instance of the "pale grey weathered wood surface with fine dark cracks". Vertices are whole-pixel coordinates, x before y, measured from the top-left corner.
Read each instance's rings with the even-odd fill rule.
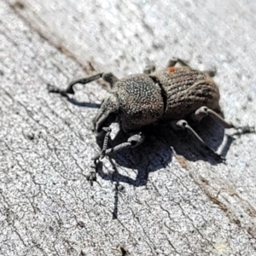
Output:
[[[226,137],[224,165],[193,137],[156,130],[103,160],[90,187],[90,125],[106,90],[78,85],[70,101],[46,90],[92,67],[121,77],[178,56],[216,67],[226,119],[255,126],[255,10],[228,0],[0,1],[0,254],[256,255],[255,134]],[[202,125],[218,146],[223,131]]]

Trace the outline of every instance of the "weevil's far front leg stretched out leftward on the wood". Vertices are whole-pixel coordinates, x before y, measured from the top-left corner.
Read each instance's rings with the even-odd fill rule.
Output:
[[[95,81],[96,79],[101,79],[101,78],[104,79],[106,82],[108,82],[111,86],[113,86],[113,84],[118,80],[113,75],[113,73],[97,73],[96,75],[90,76],[88,78],[74,80],[73,82],[68,84],[66,90],[58,89],[51,84],[48,84],[48,90],[49,92],[60,93],[62,96],[67,96],[67,94],[74,94],[73,85],[88,84],[92,81]]]

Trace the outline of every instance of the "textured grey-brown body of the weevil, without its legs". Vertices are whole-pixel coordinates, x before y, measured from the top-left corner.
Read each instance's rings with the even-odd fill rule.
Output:
[[[168,67],[155,73],[131,75],[112,84],[110,96],[95,119],[96,130],[104,125],[102,113],[110,109],[128,132],[156,121],[186,119],[202,106],[219,112],[218,101],[217,84],[207,73],[190,67]]]

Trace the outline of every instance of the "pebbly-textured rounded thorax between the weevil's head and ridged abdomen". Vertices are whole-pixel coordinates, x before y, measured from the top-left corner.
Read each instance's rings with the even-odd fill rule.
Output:
[[[113,87],[119,102],[119,119],[124,131],[138,130],[160,119],[164,101],[160,85],[148,75],[120,79]]]

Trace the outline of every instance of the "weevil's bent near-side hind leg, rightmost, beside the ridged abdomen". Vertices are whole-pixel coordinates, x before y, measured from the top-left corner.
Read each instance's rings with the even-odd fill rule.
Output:
[[[209,115],[213,120],[215,120],[219,125],[222,125],[224,128],[234,127],[234,125],[226,122],[218,113],[213,111],[211,108],[207,108],[206,106],[198,108],[195,111],[194,119],[200,122],[201,119],[205,118],[207,115]]]

